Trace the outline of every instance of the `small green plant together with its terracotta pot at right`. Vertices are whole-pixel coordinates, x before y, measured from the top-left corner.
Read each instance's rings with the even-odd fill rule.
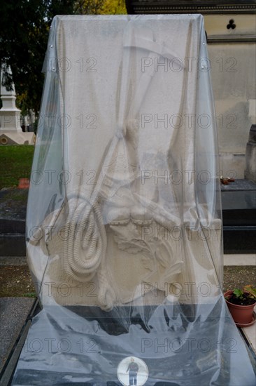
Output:
[[[256,288],[251,285],[245,286],[243,290],[235,288],[227,291],[224,296],[236,326],[251,326],[255,322],[253,309],[256,305]]]

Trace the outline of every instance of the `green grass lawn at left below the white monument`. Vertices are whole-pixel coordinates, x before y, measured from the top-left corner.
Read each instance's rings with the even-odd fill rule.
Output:
[[[0,189],[17,186],[20,178],[29,178],[33,155],[32,145],[0,146]]]

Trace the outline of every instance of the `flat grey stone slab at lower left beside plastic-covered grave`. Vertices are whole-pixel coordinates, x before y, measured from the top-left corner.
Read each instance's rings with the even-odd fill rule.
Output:
[[[0,298],[0,371],[8,358],[34,299]]]

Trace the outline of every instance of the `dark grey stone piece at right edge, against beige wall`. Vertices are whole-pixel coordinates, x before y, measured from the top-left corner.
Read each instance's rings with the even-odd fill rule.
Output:
[[[250,127],[249,140],[246,145],[245,178],[256,182],[256,125]]]

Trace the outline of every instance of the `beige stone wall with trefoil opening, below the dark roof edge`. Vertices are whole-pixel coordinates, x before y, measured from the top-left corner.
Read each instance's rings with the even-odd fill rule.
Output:
[[[256,124],[255,14],[241,11],[211,14],[204,15],[204,20],[212,66],[220,168],[223,175],[234,173],[234,178],[244,178],[246,144],[250,128]]]

